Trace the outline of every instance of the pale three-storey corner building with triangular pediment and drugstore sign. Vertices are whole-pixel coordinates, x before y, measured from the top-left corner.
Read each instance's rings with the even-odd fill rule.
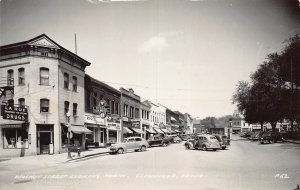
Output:
[[[65,152],[68,128],[71,145],[85,146],[90,131],[84,127],[84,76],[89,65],[44,34],[0,47],[1,156]],[[26,108],[23,120],[17,108]],[[15,111],[9,115],[8,109]]]

